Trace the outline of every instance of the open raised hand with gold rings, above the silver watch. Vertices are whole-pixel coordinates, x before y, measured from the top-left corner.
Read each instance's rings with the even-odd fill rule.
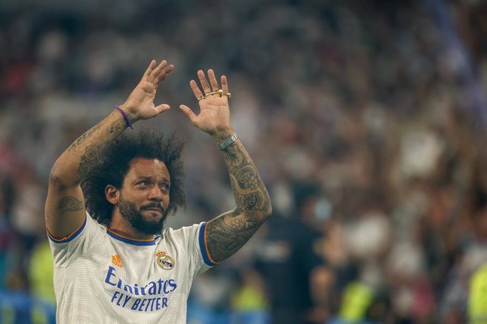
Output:
[[[189,85],[196,99],[198,99],[200,113],[196,115],[191,108],[185,105],[181,105],[179,108],[188,116],[191,123],[203,132],[212,136],[233,132],[230,125],[230,108],[228,105],[230,93],[228,92],[227,77],[224,75],[220,77],[221,88],[218,85],[215,73],[211,69],[208,70],[209,83],[202,70],[198,71],[198,78],[203,92],[195,80],[191,80]]]

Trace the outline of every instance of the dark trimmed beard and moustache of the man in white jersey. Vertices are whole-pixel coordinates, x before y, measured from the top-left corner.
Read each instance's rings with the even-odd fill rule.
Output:
[[[148,220],[145,218],[140,211],[145,208],[160,208],[162,210],[162,217],[160,220]],[[125,200],[120,195],[119,199],[119,210],[121,215],[128,220],[128,223],[132,225],[135,230],[142,232],[147,235],[156,235],[162,232],[164,228],[164,221],[167,218],[167,211],[159,203],[151,203],[143,205],[138,209],[136,204],[133,202]]]

